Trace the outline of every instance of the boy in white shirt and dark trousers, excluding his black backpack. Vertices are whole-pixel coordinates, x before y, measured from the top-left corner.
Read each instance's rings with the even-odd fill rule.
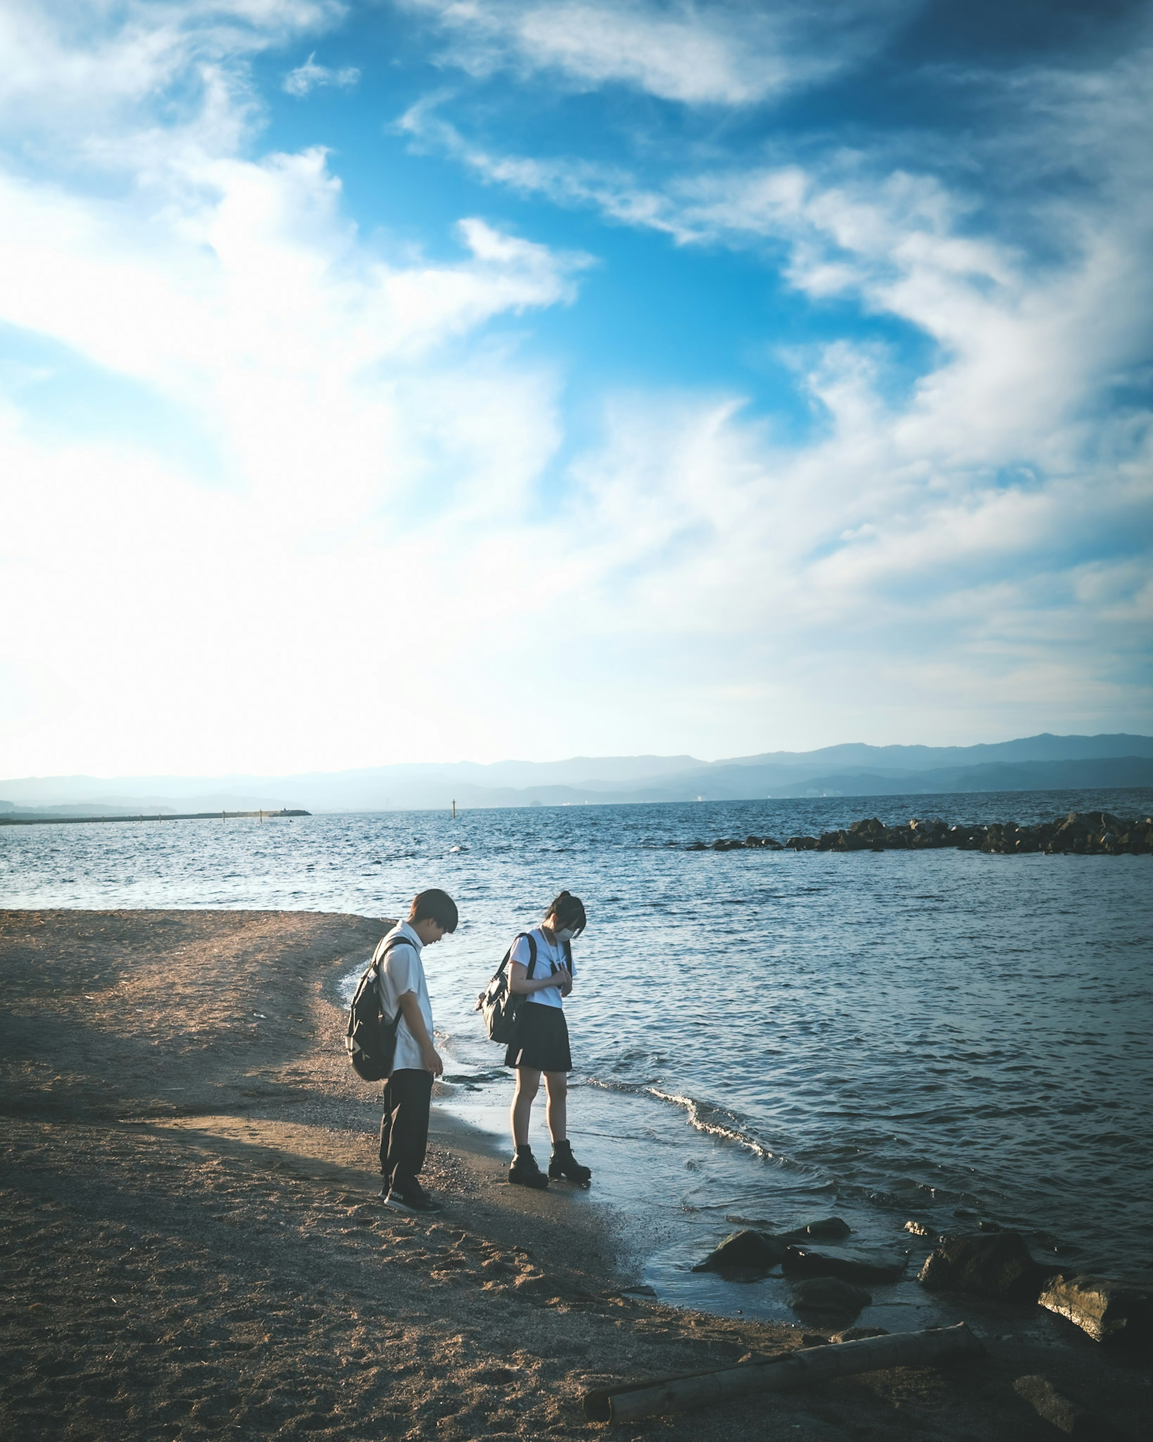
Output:
[[[428,1103],[432,1077],[444,1063],[432,1045],[432,1007],[424,979],[421,952],[447,932],[457,929],[457,906],[440,890],[414,897],[408,920],[395,926],[385,942],[402,936],[408,945],[393,946],[380,968],[380,1007],[386,1017],[401,1012],[396,1053],[385,1083],[385,1115],[380,1118],[380,1195],[398,1211],[435,1213],[442,1207],[417,1180],[428,1145]]]

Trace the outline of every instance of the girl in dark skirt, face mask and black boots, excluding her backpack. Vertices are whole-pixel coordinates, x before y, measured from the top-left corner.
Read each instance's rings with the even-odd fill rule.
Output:
[[[572,991],[572,939],[585,929],[585,908],[579,897],[562,891],[545,913],[540,926],[519,936],[509,956],[509,989],[525,996],[516,1038],[504,1053],[504,1066],[516,1067],[516,1092],[512,1106],[516,1156],[509,1181],[517,1187],[548,1187],[549,1180],[568,1178],[588,1187],[592,1171],[581,1167],[568,1144],[568,1024],[562,998]],[[536,959],[533,962],[535,943]],[[529,975],[532,970],[532,976]],[[532,1103],[545,1073],[548,1123],[552,1158],[548,1177],[536,1165],[529,1146]]]

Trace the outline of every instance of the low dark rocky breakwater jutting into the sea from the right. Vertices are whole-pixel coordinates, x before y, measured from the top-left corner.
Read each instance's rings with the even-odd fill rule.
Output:
[[[1013,820],[992,826],[950,825],[945,820],[921,820],[886,826],[878,816],[855,820],[846,831],[824,831],[820,836],[745,836],[744,841],[693,841],[686,851],[932,851],[953,846],[957,851],[984,851],[996,855],[1048,857],[1147,857],[1153,855],[1153,818],[1126,820],[1110,812],[1069,812],[1038,826],[1019,826]]]

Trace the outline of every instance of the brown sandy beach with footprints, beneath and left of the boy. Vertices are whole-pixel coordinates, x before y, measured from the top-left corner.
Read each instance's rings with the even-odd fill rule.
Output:
[[[591,1386],[736,1363],[800,1327],[621,1295],[644,1237],[434,1116],[432,1221],[376,1193],[376,1096],[343,1054],[336,983],[382,934],[356,916],[0,913],[4,1142],[0,1435],[584,1438]],[[1131,1436],[1147,1361],[1064,1322],[989,1355],[656,1419],[721,1442],[1055,1436],[1041,1373]]]

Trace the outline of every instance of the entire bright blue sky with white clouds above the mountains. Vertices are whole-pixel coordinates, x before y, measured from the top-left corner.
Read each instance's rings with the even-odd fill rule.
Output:
[[[1147,4],[0,4],[0,774],[1150,725]]]

